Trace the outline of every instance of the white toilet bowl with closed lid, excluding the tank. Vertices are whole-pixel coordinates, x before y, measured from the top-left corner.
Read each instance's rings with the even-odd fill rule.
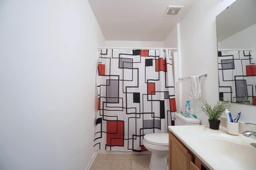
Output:
[[[149,168],[151,170],[167,170],[169,150],[168,133],[150,133],[144,135],[143,145],[152,152]]]

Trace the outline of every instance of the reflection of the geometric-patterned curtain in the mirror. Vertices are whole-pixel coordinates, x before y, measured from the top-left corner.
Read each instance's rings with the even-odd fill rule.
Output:
[[[256,105],[256,65],[249,51],[218,51],[220,100]]]

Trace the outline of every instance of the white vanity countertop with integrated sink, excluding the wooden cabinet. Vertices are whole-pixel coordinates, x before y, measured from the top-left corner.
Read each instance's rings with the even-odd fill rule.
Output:
[[[212,170],[256,169],[256,148],[250,145],[256,141],[251,138],[229,135],[223,127],[213,130],[206,125],[169,126],[168,129]]]

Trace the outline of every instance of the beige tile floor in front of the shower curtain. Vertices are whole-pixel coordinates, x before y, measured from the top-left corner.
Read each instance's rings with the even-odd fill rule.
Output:
[[[151,154],[98,154],[90,170],[150,170]]]

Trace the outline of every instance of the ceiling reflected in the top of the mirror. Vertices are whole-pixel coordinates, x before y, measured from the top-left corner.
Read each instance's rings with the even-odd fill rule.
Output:
[[[236,0],[216,17],[218,42],[256,23],[256,0]]]

